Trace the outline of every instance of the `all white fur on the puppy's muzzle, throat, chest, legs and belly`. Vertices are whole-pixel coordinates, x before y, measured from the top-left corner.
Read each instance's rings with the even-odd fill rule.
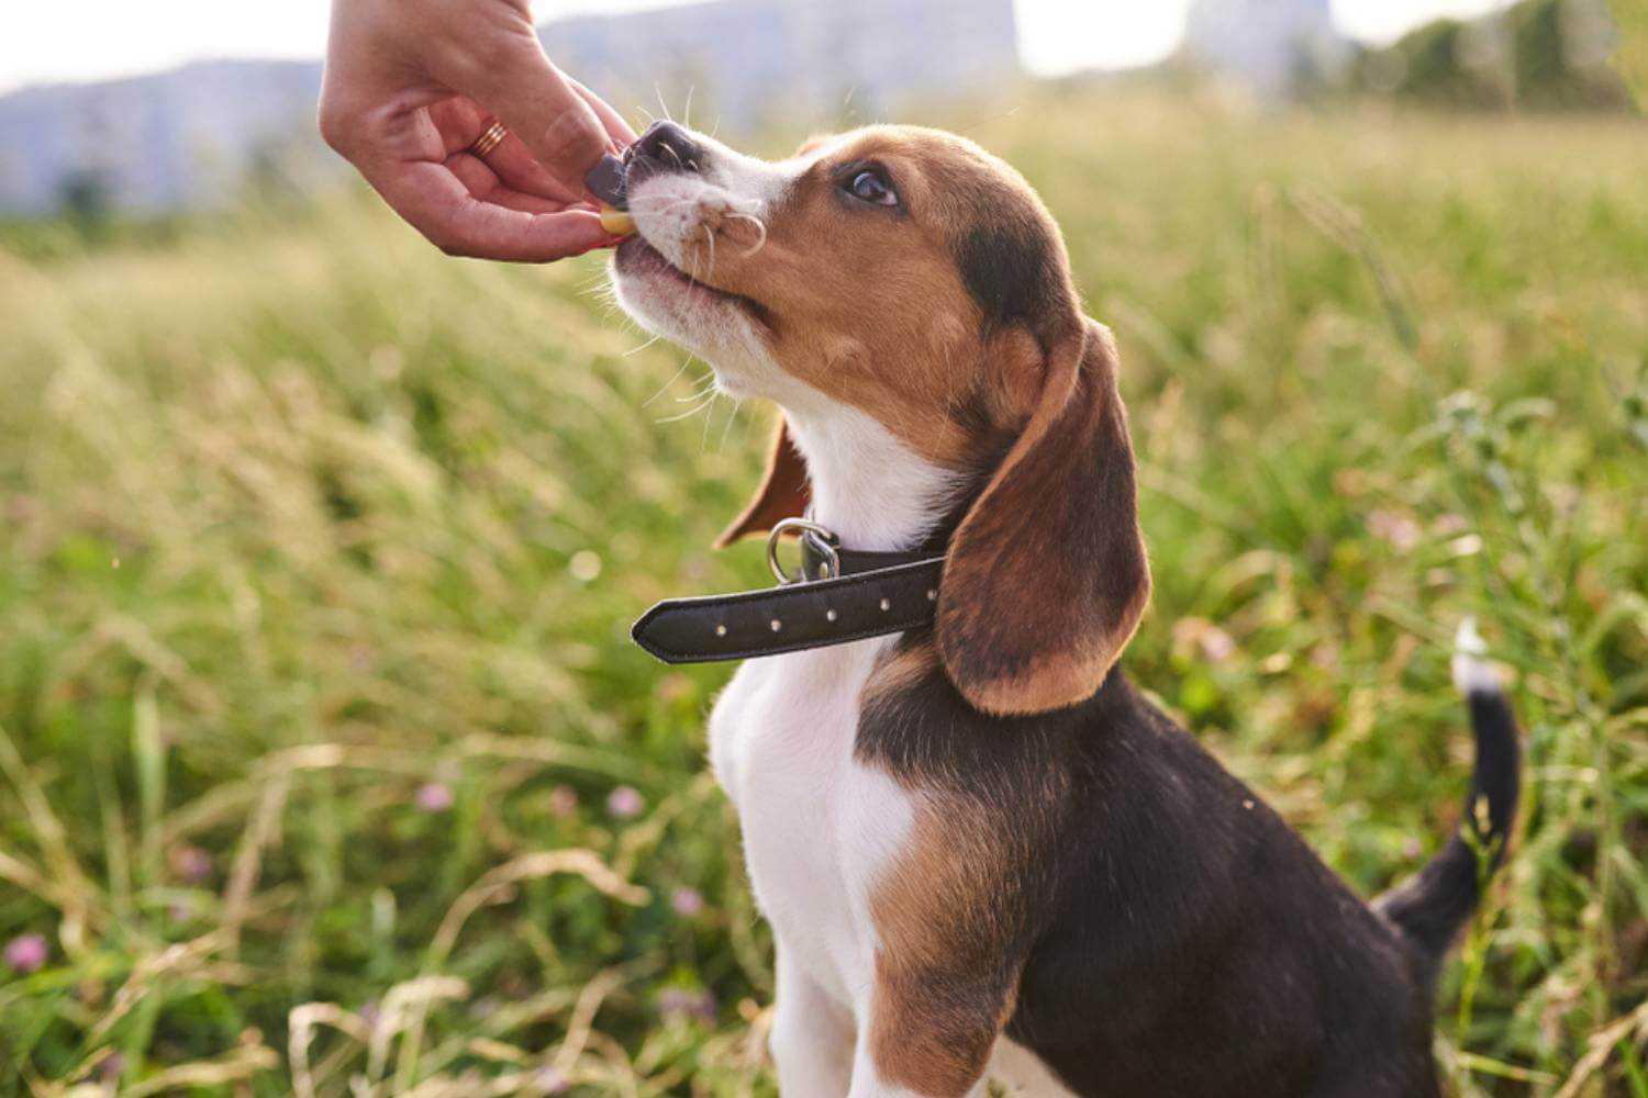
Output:
[[[639,232],[674,263],[719,209],[765,217],[801,161],[765,165],[694,135],[700,173],[654,176],[631,194]],[[717,382],[778,402],[808,461],[812,519],[862,550],[906,548],[954,500],[954,474],[921,459],[872,415],[789,377],[737,306],[674,280],[615,275],[648,329],[699,352]],[[710,765],[738,810],[745,861],[778,943],[771,1049],[788,1098],[903,1095],[878,1078],[870,897],[906,848],[918,793],[854,757],[859,698],[890,637],[748,660],[710,714]],[[1002,1039],[987,1075],[1030,1095],[1068,1093]],[[981,1080],[976,1093],[984,1091]]]

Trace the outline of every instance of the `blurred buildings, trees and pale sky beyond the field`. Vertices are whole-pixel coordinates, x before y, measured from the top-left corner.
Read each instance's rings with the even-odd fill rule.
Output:
[[[325,0],[31,8],[0,43],[0,214],[188,211],[249,184],[313,193],[343,178],[313,127]],[[1607,0],[585,0],[539,13],[549,54],[628,114],[686,112],[691,95],[728,137],[1005,102],[1023,77],[1094,69],[1200,72],[1272,105],[1630,105]]]

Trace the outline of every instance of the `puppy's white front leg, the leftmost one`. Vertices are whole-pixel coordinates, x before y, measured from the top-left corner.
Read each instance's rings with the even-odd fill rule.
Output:
[[[776,943],[776,1003],[766,1047],[784,1098],[840,1098],[852,1072],[852,1014]]]

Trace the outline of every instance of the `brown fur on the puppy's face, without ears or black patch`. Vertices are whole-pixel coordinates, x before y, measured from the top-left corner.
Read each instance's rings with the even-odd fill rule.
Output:
[[[870,127],[809,147],[817,160],[770,217],[766,242],[722,247],[714,262],[705,242],[692,273],[760,306],[784,370],[868,412],[929,461],[971,466],[986,440],[962,410],[984,393],[987,426],[1017,430],[1038,364],[987,354],[957,230],[1015,217],[1051,226],[1046,211],[1012,168],[949,133]],[[868,161],[892,174],[900,209],[845,206],[839,174]],[[873,301],[859,296],[865,286]],[[1002,374],[1020,364],[1032,375]]]

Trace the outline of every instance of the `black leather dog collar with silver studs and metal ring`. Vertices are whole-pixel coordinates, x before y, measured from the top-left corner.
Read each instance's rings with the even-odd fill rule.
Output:
[[[801,537],[801,568],[786,575],[778,542]],[[776,588],[664,599],[630,635],[666,663],[748,660],[883,637],[933,621],[944,556],[842,548],[816,522],[784,519],[766,537]]]

